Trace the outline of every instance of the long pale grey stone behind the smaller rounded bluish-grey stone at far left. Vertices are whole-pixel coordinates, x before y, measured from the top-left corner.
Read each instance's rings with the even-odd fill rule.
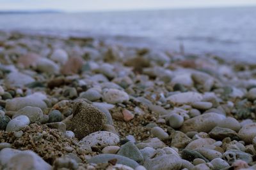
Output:
[[[38,107],[42,110],[47,108],[47,104],[44,102],[44,95],[35,93],[26,97],[15,97],[6,101],[5,109],[7,111],[18,111],[26,106]]]

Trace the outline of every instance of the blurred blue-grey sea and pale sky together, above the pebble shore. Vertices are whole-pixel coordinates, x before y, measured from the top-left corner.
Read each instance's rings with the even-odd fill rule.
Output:
[[[0,0],[0,30],[256,60],[255,0]]]

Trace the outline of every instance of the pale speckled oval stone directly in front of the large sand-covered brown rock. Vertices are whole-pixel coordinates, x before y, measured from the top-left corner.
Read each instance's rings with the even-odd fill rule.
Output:
[[[104,148],[105,146],[115,146],[120,142],[119,136],[107,131],[93,132],[79,141],[79,144],[88,150],[92,146],[99,146]]]

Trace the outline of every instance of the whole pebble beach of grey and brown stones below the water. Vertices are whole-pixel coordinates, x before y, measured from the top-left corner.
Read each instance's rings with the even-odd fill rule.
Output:
[[[0,169],[256,169],[256,64],[0,32]]]

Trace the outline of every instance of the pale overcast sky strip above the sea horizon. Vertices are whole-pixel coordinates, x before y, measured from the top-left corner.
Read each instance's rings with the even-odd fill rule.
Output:
[[[256,0],[0,0],[0,10],[109,11],[256,6]]]

